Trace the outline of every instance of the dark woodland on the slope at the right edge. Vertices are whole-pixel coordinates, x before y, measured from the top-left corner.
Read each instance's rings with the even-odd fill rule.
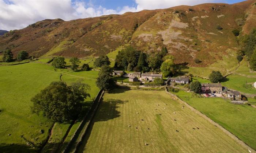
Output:
[[[246,55],[249,59],[250,66],[256,71],[256,29],[254,28],[249,35],[245,35],[242,39],[242,49],[238,53],[238,60],[242,60],[241,56]]]

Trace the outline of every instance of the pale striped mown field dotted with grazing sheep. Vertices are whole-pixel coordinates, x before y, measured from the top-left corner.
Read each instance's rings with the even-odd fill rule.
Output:
[[[103,96],[79,152],[246,150],[198,114],[182,109],[165,91],[118,89]]]

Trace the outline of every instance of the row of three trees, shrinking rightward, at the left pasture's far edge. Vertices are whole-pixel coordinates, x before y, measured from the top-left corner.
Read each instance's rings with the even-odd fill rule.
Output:
[[[69,59],[69,62],[71,63],[71,66],[70,68],[73,70],[73,71],[76,71],[78,70],[78,67],[79,67],[79,63],[80,60],[78,58],[70,58]],[[66,67],[66,62],[65,62],[65,58],[64,57],[56,57],[53,59],[53,62],[52,62],[52,66],[56,67],[56,68],[64,68]],[[90,70],[90,67],[88,64],[83,64],[81,70],[83,71],[89,71]]]

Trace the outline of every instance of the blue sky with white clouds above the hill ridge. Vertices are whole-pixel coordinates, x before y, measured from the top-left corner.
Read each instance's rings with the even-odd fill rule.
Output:
[[[44,19],[68,21],[143,9],[240,1],[243,0],[0,0],[0,30],[22,29]]]

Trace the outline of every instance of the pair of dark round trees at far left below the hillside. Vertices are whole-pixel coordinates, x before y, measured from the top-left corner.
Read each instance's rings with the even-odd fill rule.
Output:
[[[26,51],[20,51],[17,55],[18,60],[25,60],[28,57],[29,57],[29,53],[27,53]],[[12,60],[13,60],[12,51],[10,49],[5,50],[4,54],[3,54],[3,61],[4,62],[12,62]]]

